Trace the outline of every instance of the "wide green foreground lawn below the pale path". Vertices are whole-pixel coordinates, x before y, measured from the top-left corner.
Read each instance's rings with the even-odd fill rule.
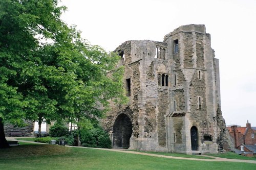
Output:
[[[69,148],[19,145],[0,150],[1,169],[256,169],[256,164],[168,159],[161,157]]]

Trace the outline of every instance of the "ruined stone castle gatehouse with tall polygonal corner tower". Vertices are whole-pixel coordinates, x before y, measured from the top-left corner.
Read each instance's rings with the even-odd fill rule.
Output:
[[[130,102],[113,105],[102,120],[113,147],[218,152],[226,134],[219,62],[204,25],[181,26],[163,42],[126,41],[115,51]]]

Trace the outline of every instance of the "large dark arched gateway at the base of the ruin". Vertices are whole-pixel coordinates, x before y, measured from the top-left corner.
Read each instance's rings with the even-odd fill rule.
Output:
[[[132,133],[130,117],[123,113],[118,115],[113,126],[113,148],[128,149]]]

